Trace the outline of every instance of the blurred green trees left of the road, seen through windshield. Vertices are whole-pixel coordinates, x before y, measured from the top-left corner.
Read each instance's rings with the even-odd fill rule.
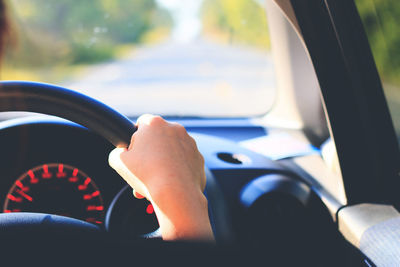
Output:
[[[17,67],[91,64],[110,60],[119,46],[138,44],[172,19],[154,0],[13,0],[17,46],[6,64]]]

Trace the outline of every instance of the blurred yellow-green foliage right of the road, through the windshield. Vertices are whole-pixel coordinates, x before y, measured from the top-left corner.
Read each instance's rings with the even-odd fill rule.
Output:
[[[257,0],[204,0],[204,31],[229,42],[269,48],[263,3]]]

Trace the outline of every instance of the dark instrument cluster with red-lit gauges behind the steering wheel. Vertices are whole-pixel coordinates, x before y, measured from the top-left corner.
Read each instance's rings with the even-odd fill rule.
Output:
[[[117,210],[125,205],[118,199],[126,198],[132,208],[118,221],[130,225],[137,219],[134,231],[125,232],[139,236],[158,228],[151,204],[131,197],[108,166],[113,147],[102,137],[59,119],[15,119],[0,128],[2,212],[56,214],[105,229],[115,225],[110,218],[118,217]],[[111,206],[114,216],[108,215]]]

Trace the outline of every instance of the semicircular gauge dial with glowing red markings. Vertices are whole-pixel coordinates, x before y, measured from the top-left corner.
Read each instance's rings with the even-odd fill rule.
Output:
[[[101,193],[83,171],[62,163],[43,164],[22,174],[9,190],[4,212],[41,212],[102,224]]]

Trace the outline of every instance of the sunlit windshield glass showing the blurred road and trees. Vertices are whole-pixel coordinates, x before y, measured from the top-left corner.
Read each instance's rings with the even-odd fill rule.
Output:
[[[275,93],[264,1],[13,0],[3,80],[63,85],[126,115],[242,117]]]

